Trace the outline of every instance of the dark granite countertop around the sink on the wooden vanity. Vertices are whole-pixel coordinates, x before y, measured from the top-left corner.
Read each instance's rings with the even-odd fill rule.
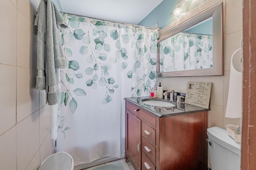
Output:
[[[210,109],[205,109],[202,107],[193,106],[190,104],[177,104],[176,102],[173,102],[175,104],[174,107],[159,107],[159,106],[151,106],[148,104],[143,104],[141,100],[143,99],[150,99],[149,96],[146,97],[134,97],[134,98],[124,98],[124,100],[131,102],[132,104],[141,107],[142,109],[145,109],[146,111],[149,111],[150,113],[158,116],[158,117],[168,117],[168,116],[174,116],[174,115],[182,115],[182,114],[188,114],[188,113],[195,113],[195,112],[201,112],[201,111],[208,111]],[[154,99],[153,99],[154,100]]]

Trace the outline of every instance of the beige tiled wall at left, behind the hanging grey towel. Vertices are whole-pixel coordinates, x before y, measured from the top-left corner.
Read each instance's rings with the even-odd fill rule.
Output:
[[[0,2],[4,19],[0,27],[1,170],[37,170],[40,160],[53,153],[51,115],[56,113],[51,114],[50,106],[45,105],[45,92],[39,98],[35,89],[37,30],[33,24],[39,2]]]

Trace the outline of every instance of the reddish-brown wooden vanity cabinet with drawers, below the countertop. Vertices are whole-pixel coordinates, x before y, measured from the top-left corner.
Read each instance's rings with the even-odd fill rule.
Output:
[[[126,101],[126,161],[135,170],[206,170],[207,111],[158,117]]]

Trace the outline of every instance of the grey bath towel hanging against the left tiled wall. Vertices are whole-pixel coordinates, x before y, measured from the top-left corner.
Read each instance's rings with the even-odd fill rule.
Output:
[[[38,28],[36,89],[46,90],[46,103],[58,103],[58,68],[65,68],[61,48],[60,30],[67,24],[51,0],[41,0],[36,11],[35,27]]]

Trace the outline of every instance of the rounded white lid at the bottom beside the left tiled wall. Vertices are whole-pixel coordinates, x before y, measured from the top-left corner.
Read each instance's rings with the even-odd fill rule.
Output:
[[[38,170],[74,170],[74,161],[70,154],[57,152],[46,158]]]

